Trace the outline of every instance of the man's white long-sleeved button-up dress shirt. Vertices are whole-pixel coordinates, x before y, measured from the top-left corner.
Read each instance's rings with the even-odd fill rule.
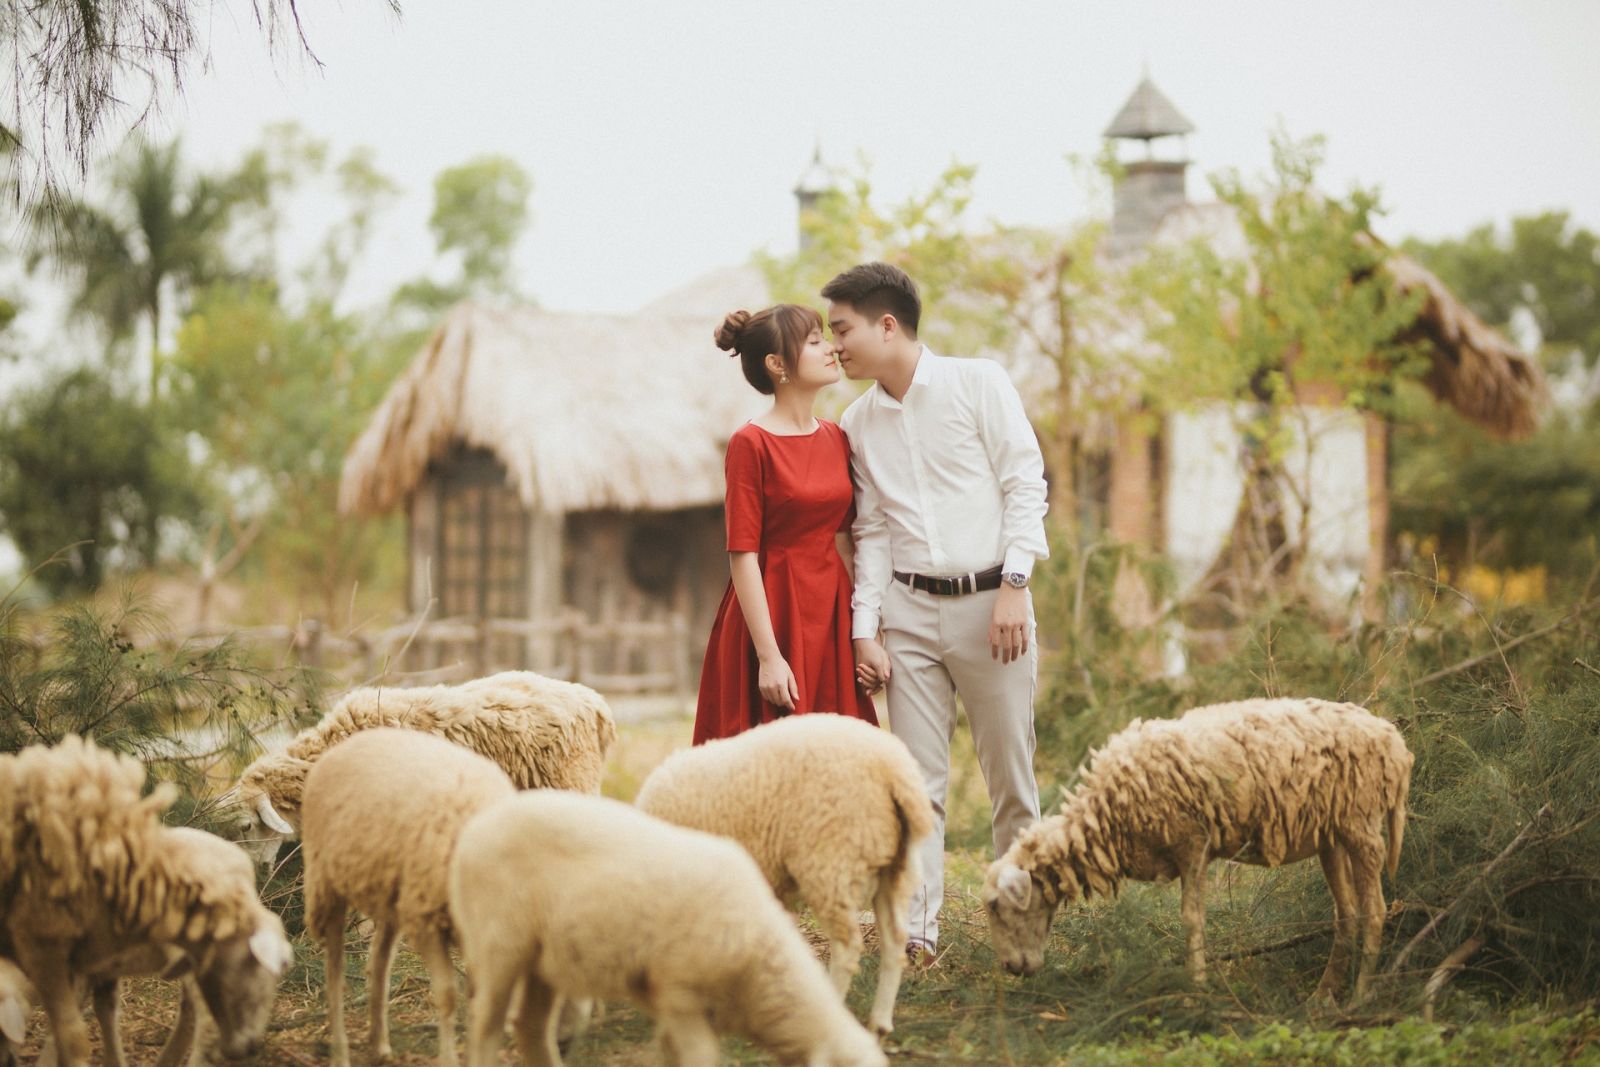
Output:
[[[894,571],[1032,574],[1045,539],[1045,461],[1022,398],[994,360],[922,346],[904,400],[883,386],[838,421],[856,482],[851,637],[877,637]]]

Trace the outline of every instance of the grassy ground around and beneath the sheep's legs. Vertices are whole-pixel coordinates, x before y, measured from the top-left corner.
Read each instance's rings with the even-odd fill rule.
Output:
[[[605,790],[630,798],[661,758],[688,742],[688,733],[682,718],[624,725]],[[1330,915],[1314,864],[1277,872],[1216,867],[1208,912],[1214,981],[1203,992],[1189,984],[1181,965],[1174,886],[1131,885],[1114,901],[1059,915],[1045,969],[1029,979],[1006,977],[987,947],[976,897],[989,861],[989,819],[965,726],[955,749],[942,952],[938,966],[909,976],[901,990],[890,1041],[894,1062],[1600,1064],[1600,1014],[1582,1005],[1518,1003],[1514,990],[1450,993],[1435,1024],[1424,1024],[1398,995],[1376,997],[1374,1006],[1360,1013],[1309,1014],[1304,998],[1326,958]],[[293,915],[290,923],[293,928]],[[349,1032],[355,1062],[365,1062],[365,947],[358,937],[352,933],[347,953]],[[267,1049],[250,1064],[326,1062],[322,953],[302,939],[296,947]],[[858,1017],[866,1016],[875,974],[877,961],[869,955],[850,997]],[[131,984],[125,1040],[134,1062],[154,1061],[173,1017],[171,987]],[[395,966],[390,1019],[390,1062],[432,1062],[427,977],[405,949]],[[42,1016],[35,1022],[42,1024]],[[650,1035],[645,1016],[611,1005],[568,1062],[656,1064]],[[738,1041],[725,1045],[725,1057],[770,1062]],[[509,1046],[504,1061],[514,1062]],[[32,1049],[22,1062],[32,1062]]]

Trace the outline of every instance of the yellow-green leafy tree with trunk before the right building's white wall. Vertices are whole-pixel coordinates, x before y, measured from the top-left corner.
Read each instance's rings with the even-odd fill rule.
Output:
[[[1250,480],[1234,536],[1234,603],[1293,589],[1307,536],[1310,464],[1291,477],[1286,459],[1310,438],[1309,394],[1384,416],[1397,386],[1426,368],[1400,338],[1421,294],[1402,296],[1371,237],[1374,190],[1344,198],[1317,189],[1320,138],[1272,142],[1274,171],[1253,187],[1214,176],[1218,198],[1242,227],[1246,254],[1229,258],[1206,240],[1150,250],[1133,272],[1144,322],[1160,358],[1144,363],[1154,411],[1219,405],[1250,451]]]

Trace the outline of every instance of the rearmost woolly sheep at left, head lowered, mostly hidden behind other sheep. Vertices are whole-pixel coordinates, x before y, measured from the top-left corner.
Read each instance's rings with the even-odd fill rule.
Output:
[[[584,685],[507,670],[462,685],[363,688],[347,693],[283,752],[261,757],[242,774],[240,843],[270,864],[299,825],[301,789],[312,763],[362,729],[397,726],[438,734],[488,757],[517,789],[600,792],[616,723],[605,699]]]

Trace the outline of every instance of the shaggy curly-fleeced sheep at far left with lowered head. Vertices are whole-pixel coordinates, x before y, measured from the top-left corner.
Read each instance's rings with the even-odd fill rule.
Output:
[[[0,953],[38,992],[67,1067],[88,1057],[75,985],[114,973],[117,960],[182,953],[222,1051],[243,1056],[259,1045],[293,958],[283,925],[256,897],[250,861],[221,840],[198,845],[197,830],[163,827],[174,790],[141,797],[142,782],[138,760],[80,737],[0,760]],[[104,1043],[117,1062],[115,1025]]]

